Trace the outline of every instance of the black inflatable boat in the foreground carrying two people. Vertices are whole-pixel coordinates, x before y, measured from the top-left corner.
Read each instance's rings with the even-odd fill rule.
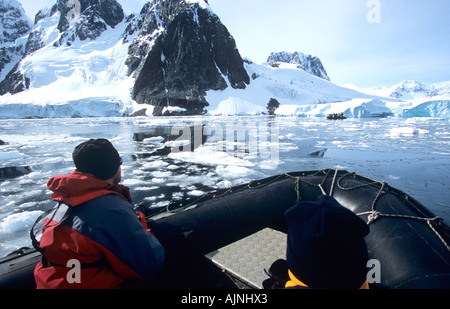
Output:
[[[256,241],[252,237],[261,231],[271,232],[256,251],[278,251],[275,253],[282,257],[285,252],[271,246],[283,244],[288,229],[285,211],[323,194],[333,196],[369,224],[369,257],[379,267],[371,288],[450,288],[449,226],[387,183],[342,170],[286,173],[174,201],[159,209],[141,207],[166,250],[166,263],[154,287],[260,287],[249,284],[245,274],[234,272],[227,262],[245,257]],[[244,240],[244,245],[234,246]],[[216,253],[232,246],[234,255],[219,263]],[[263,255],[267,258],[268,254]],[[248,256],[244,258],[247,262],[255,257]],[[39,253],[32,249],[21,249],[0,260],[0,288],[33,288],[33,269],[39,260]],[[251,263],[262,274],[271,266],[270,259],[261,265]]]

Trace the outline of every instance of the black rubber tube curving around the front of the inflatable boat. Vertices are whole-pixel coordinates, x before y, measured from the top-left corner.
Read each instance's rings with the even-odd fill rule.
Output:
[[[377,287],[450,288],[449,227],[409,195],[347,171],[254,181],[208,194],[191,202],[193,209],[178,205],[176,214],[149,223],[166,248],[168,267],[178,269],[179,275],[189,252],[207,254],[266,227],[287,232],[284,212],[324,193],[370,223],[369,256],[381,266]]]

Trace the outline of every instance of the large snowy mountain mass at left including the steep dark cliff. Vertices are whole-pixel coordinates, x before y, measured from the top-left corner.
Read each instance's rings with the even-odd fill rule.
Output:
[[[19,107],[30,117],[80,116],[111,101],[125,114],[136,103],[155,114],[168,107],[201,114],[206,91],[250,82],[234,39],[207,2],[155,0],[125,17],[115,0],[83,0],[73,19],[65,4],[37,14],[25,57],[0,83],[1,117]],[[80,100],[89,106],[76,111]]]

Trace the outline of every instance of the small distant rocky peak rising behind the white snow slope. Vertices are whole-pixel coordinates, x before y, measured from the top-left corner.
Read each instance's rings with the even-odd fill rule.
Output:
[[[325,80],[330,80],[322,62],[319,58],[306,55],[301,52],[276,52],[271,53],[267,63],[273,67],[278,67],[281,63],[295,64],[297,68]]]

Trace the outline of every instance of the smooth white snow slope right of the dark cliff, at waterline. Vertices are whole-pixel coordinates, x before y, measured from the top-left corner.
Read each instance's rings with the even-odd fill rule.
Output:
[[[250,85],[245,90],[228,87],[208,92],[210,115],[260,114],[267,112],[269,100],[275,98],[281,104],[276,111],[278,115],[323,116],[380,99],[337,86],[297,68],[296,64],[284,63],[274,68],[247,60],[245,66],[252,77]]]

